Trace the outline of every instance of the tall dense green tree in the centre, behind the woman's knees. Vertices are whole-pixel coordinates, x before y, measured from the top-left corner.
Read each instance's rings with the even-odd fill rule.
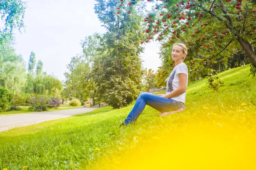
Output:
[[[114,108],[122,108],[137,98],[142,90],[143,51],[140,40],[144,38],[141,25],[143,6],[123,6],[128,12],[116,12],[118,0],[96,0],[95,12],[107,33],[102,36],[99,57],[93,64],[96,96]]]

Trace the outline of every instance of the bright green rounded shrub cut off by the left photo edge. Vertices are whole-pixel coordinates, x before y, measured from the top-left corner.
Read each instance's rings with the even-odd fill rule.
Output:
[[[3,87],[0,87],[0,112],[7,111],[11,108],[13,95]]]

